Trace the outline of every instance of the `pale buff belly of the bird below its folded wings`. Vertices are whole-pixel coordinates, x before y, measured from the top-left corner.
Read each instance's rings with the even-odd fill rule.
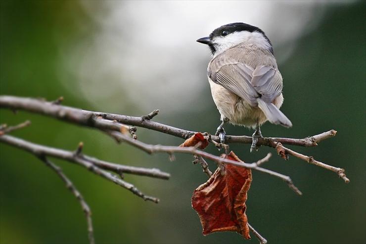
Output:
[[[212,98],[221,114],[222,120],[226,119],[233,125],[252,128],[256,126],[257,122],[263,124],[267,121],[265,114],[258,106],[252,107],[249,103],[210,79],[209,83]],[[282,105],[282,102],[282,94],[273,101],[278,108]]]

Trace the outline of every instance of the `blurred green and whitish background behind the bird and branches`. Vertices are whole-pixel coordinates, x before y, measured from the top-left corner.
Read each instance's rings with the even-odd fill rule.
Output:
[[[293,128],[266,124],[264,136],[304,138],[336,129],[318,147],[290,146],[346,169],[347,185],[329,171],[291,157],[265,167],[290,175],[303,192],[253,172],[249,222],[270,243],[365,243],[366,104],[365,1],[0,1],[0,94],[60,96],[90,110],[144,115],[194,131],[214,133],[219,113],[210,96],[207,47],[195,42],[216,27],[246,22],[274,44],[284,77],[282,111]],[[59,164],[90,204],[97,243],[257,243],[236,233],[203,237],[191,208],[193,190],[206,181],[189,155],[148,155],[87,128],[20,111],[0,110],[0,123],[32,121],[13,135],[39,144],[76,148],[128,165],[158,167],[169,181],[126,176],[159,204],[68,162]],[[251,135],[243,127],[228,134]],[[182,140],[139,128],[138,139],[179,145]],[[272,148],[249,153],[247,162]],[[210,146],[207,151],[219,154]],[[0,243],[87,243],[79,203],[60,179],[27,152],[0,144]],[[210,163],[211,170],[215,164]]]

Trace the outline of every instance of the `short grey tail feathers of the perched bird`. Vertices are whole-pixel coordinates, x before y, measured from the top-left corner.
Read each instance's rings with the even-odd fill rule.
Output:
[[[275,125],[292,127],[291,121],[273,103],[268,103],[261,98],[257,99],[259,108],[264,112],[268,121]]]

